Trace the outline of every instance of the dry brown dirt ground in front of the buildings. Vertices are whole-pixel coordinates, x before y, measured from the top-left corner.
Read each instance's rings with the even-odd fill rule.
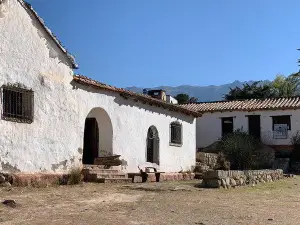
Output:
[[[199,181],[1,189],[1,224],[300,224],[300,178],[230,190]]]

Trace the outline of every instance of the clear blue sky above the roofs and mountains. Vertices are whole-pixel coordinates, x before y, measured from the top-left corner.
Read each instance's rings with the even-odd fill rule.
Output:
[[[299,0],[29,0],[84,74],[120,86],[219,85],[298,71]]]

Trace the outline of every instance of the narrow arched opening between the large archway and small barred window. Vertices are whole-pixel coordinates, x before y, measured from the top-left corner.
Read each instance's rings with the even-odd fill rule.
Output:
[[[151,126],[148,129],[147,162],[159,165],[159,136],[155,126]]]

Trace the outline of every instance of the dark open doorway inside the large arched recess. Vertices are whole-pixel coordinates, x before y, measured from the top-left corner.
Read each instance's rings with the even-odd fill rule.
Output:
[[[99,152],[99,129],[96,118],[86,118],[83,143],[83,164],[94,164]]]

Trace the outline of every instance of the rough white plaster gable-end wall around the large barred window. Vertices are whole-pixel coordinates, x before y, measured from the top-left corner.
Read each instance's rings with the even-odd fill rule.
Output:
[[[16,0],[0,5],[0,40],[0,85],[20,83],[35,93],[32,124],[0,120],[1,169],[54,171],[78,162],[78,103],[68,98],[66,58]]]

